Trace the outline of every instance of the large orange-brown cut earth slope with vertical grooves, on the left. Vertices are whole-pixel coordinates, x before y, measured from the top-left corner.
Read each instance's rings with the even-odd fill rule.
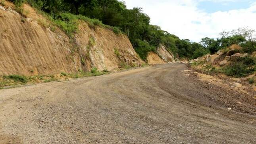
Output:
[[[0,4],[0,75],[51,75],[79,70],[113,71],[123,66],[140,66],[129,39],[110,29],[89,27],[79,21],[70,38],[29,5],[25,15],[10,2]]]

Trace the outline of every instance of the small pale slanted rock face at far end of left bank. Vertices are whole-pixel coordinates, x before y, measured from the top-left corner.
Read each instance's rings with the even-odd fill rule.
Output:
[[[166,50],[166,47],[165,47],[164,45],[161,44],[161,45],[158,47],[158,49],[156,50],[156,52],[157,52],[158,55],[161,56],[162,59],[163,59],[164,61],[166,61],[167,63],[174,63],[174,62],[175,62],[173,54],[171,54],[170,52],[168,52],[168,51]]]

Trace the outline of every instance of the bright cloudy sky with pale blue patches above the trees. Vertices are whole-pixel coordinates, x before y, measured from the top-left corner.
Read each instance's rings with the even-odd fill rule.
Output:
[[[150,24],[199,42],[222,31],[256,29],[256,0],[124,0],[127,8],[142,7]]]

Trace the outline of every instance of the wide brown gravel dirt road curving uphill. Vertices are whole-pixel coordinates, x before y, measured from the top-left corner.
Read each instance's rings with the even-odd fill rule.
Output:
[[[252,113],[183,64],[0,90],[0,143],[256,143]]]

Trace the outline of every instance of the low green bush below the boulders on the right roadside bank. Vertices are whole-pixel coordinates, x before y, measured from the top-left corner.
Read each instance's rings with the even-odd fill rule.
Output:
[[[256,60],[252,57],[239,58],[222,69],[227,76],[246,77],[256,71]]]

